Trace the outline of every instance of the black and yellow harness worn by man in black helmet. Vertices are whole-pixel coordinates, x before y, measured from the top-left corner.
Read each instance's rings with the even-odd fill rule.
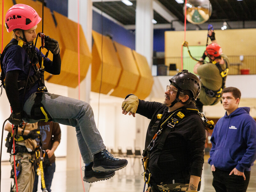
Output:
[[[144,182],[145,182],[144,190],[145,190],[146,184],[148,184],[149,187],[153,187],[153,188],[157,189],[157,185],[152,180],[152,178],[151,178],[152,174],[150,173],[150,171],[148,169],[148,159],[149,159],[151,150],[156,146],[160,150],[163,149],[164,142],[167,138],[167,135],[169,134],[169,132],[171,132],[171,130],[174,128],[174,126],[177,125],[185,117],[185,114],[187,114],[187,113],[195,113],[195,114],[199,115],[205,124],[205,130],[209,131],[214,128],[214,122],[212,120],[211,121],[207,120],[206,117],[204,116],[204,114],[200,113],[197,109],[182,108],[182,109],[178,109],[175,112],[173,112],[172,115],[170,115],[164,121],[164,123],[161,124],[160,129],[153,136],[148,147],[143,150],[142,165],[144,168],[144,173],[142,173],[142,175],[144,175]],[[156,123],[153,126],[157,127],[161,118],[162,118],[162,114],[158,114]],[[162,136],[159,137],[160,135],[162,135]],[[158,140],[158,143],[156,144],[157,140]]]

